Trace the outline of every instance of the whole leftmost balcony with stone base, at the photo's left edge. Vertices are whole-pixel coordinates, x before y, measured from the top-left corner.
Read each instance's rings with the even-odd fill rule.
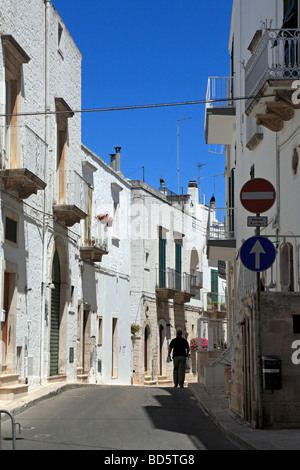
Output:
[[[0,128],[0,178],[6,191],[17,191],[27,199],[43,191],[47,145],[27,126]]]

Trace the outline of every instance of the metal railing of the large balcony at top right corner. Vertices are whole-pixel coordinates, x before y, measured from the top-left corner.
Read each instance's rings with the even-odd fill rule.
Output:
[[[266,80],[300,77],[299,29],[269,29],[249,59],[245,68],[246,96],[256,96]],[[246,103],[246,108],[252,98]]]

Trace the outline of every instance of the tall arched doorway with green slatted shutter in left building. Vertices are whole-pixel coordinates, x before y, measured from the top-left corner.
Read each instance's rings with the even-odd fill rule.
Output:
[[[61,271],[57,250],[52,264],[51,318],[50,318],[50,377],[59,374],[59,329],[60,329]]]

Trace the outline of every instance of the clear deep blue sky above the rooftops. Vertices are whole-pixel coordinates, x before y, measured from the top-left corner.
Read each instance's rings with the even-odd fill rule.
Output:
[[[83,55],[82,108],[203,100],[209,76],[228,76],[232,0],[52,0]],[[199,176],[206,203],[224,207],[225,159],[204,139],[205,106],[82,114],[82,142],[121,170],[158,189],[178,191]],[[215,184],[214,184],[215,181]]]

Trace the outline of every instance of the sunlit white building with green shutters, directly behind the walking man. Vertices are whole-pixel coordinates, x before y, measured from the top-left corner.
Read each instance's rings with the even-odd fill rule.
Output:
[[[132,322],[140,331],[132,336],[133,382],[172,381],[168,346],[181,328],[190,342],[198,334],[210,290],[205,253],[207,207],[198,203],[196,182],[178,196],[161,180],[156,190],[132,181]],[[198,355],[192,350],[187,381],[198,380]]]

